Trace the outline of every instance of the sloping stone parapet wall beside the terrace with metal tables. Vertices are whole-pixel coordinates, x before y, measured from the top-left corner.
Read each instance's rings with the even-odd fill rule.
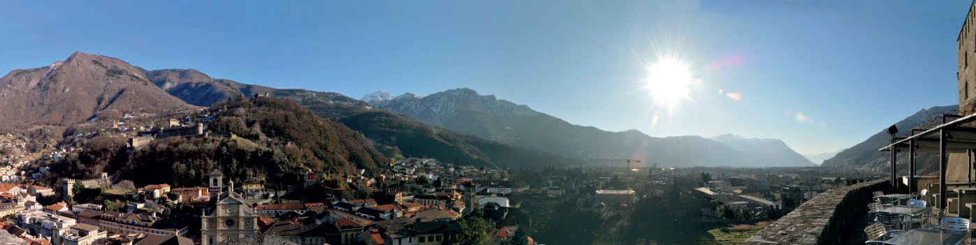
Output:
[[[868,213],[872,192],[893,189],[888,179],[881,179],[827,190],[759,230],[745,244],[844,244],[851,225]]]

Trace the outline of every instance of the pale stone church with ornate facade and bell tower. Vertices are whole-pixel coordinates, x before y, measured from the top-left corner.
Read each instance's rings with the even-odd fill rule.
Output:
[[[210,178],[211,205],[201,217],[202,245],[243,244],[249,237],[257,236],[258,216],[254,207],[234,192],[234,183],[227,182],[224,192],[224,175],[215,170]]]

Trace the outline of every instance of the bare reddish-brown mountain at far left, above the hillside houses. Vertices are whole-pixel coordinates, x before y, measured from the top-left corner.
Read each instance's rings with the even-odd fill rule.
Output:
[[[0,129],[64,126],[100,113],[160,113],[195,107],[149,82],[142,69],[118,59],[71,54],[51,65],[0,77]]]

